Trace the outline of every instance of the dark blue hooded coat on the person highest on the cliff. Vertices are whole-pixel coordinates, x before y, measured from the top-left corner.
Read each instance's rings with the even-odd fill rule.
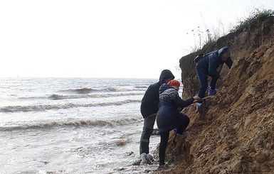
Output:
[[[204,69],[206,70],[207,75],[211,76],[214,79],[218,79],[220,77],[220,74],[218,73],[217,68],[220,65],[226,63],[229,69],[232,66],[233,61],[231,60],[231,58],[228,58],[226,62],[223,62],[221,60],[221,55],[225,53],[228,49],[228,47],[223,47],[219,50],[206,54],[204,58],[201,58],[201,60],[197,62],[196,69]]]

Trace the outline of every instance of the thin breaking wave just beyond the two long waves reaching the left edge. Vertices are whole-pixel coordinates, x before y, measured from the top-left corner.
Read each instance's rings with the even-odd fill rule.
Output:
[[[100,93],[100,94],[82,94],[82,95],[61,95],[52,94],[48,99],[58,100],[58,99],[85,99],[85,98],[105,98],[105,97],[122,97],[122,96],[133,96],[142,95],[143,93],[130,92],[130,93]]]

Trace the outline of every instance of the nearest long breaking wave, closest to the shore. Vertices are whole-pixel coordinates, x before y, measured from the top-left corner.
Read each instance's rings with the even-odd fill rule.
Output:
[[[73,121],[48,121],[48,122],[39,122],[33,124],[21,124],[21,125],[12,125],[6,127],[0,127],[0,131],[14,131],[20,129],[51,129],[56,126],[120,126],[133,124],[137,121],[140,121],[139,118],[123,118],[123,119],[112,119],[112,120],[89,120],[89,119],[80,119]]]

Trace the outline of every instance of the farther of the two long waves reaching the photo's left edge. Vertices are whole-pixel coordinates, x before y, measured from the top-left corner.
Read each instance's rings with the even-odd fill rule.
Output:
[[[139,99],[127,99],[120,102],[102,102],[102,103],[95,103],[95,104],[58,104],[58,105],[51,105],[51,104],[38,104],[38,105],[28,105],[28,106],[7,106],[1,107],[0,112],[43,112],[46,110],[56,110],[56,109],[70,109],[75,107],[104,107],[104,106],[111,106],[111,105],[122,105],[134,102],[141,102]]]

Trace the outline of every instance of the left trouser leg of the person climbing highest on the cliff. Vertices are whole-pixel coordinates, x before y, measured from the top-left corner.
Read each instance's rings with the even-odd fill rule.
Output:
[[[207,74],[206,70],[203,68],[196,67],[196,73],[198,75],[199,83],[200,83],[200,89],[199,89],[199,97],[202,99],[206,95],[206,89],[208,86],[208,80],[207,80]]]

